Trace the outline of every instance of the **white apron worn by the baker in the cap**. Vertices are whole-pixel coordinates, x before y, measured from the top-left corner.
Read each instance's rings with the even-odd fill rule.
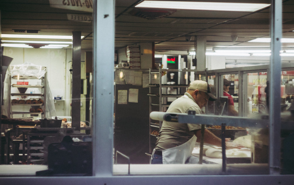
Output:
[[[197,137],[194,135],[189,141],[180,146],[162,150],[162,164],[185,164],[192,154],[196,139]],[[153,154],[154,151],[155,149]]]

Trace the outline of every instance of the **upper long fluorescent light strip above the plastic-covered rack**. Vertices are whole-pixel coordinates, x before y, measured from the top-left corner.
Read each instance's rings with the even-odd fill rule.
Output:
[[[1,34],[1,38],[49,38],[49,39],[72,39],[68,35],[24,35],[24,34]],[[81,39],[84,36],[81,36]]]

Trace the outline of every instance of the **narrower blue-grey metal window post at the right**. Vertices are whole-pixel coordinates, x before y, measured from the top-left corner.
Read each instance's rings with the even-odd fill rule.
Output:
[[[280,174],[280,80],[281,80],[281,38],[282,1],[272,0],[271,4],[271,57],[269,97],[269,170]]]

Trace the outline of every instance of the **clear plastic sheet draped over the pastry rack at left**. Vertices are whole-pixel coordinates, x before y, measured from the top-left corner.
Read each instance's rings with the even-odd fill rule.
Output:
[[[35,65],[29,62],[20,65],[9,65],[8,71],[5,75],[4,80],[4,100],[3,100],[3,109],[2,114],[7,115],[7,117],[11,118],[10,110],[9,110],[9,96],[10,96],[10,84],[9,84],[9,75],[10,76],[33,76],[38,79],[44,77],[46,73],[46,68],[42,68],[41,65]],[[8,75],[9,74],[9,75]],[[51,118],[56,116],[56,110],[54,106],[53,96],[51,94],[51,90],[49,88],[48,78],[46,80],[46,112],[44,112],[45,118]]]

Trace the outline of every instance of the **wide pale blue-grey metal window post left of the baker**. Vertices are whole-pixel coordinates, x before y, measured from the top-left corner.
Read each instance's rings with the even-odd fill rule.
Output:
[[[93,175],[112,176],[114,0],[93,1]]]

